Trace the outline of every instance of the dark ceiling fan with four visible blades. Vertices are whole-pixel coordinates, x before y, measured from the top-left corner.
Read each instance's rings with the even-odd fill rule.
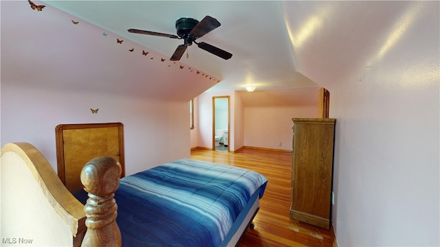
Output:
[[[228,51],[224,51],[223,49],[214,47],[213,45],[210,45],[208,43],[195,42],[197,38],[200,38],[201,36],[208,34],[208,32],[211,32],[212,30],[216,29],[219,26],[220,26],[219,21],[217,21],[217,19],[212,18],[211,16],[205,16],[205,18],[203,18],[203,20],[201,20],[200,22],[192,18],[183,17],[176,21],[177,35],[162,34],[159,32],[151,32],[151,31],[137,30],[137,29],[129,29],[127,31],[134,34],[148,34],[153,36],[183,39],[184,44],[179,45],[177,49],[174,51],[173,56],[171,56],[170,58],[170,60],[172,61],[180,60],[181,56],[185,53],[186,48],[192,45],[192,43],[197,44],[199,48],[204,49],[205,51],[208,51],[211,54],[214,54],[216,56],[219,56],[220,58],[228,60],[229,58],[232,57],[232,54],[230,54]]]

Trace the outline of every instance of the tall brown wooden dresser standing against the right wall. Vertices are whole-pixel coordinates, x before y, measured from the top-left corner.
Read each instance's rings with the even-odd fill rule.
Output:
[[[292,119],[290,217],[330,228],[333,140],[336,119]]]

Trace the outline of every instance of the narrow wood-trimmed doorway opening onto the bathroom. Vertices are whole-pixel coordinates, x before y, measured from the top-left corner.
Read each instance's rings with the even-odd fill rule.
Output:
[[[229,152],[229,96],[212,97],[212,150]]]

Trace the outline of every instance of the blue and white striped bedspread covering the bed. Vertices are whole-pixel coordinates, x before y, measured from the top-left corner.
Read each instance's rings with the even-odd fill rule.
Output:
[[[219,246],[267,178],[181,159],[121,178],[115,192],[122,246]]]

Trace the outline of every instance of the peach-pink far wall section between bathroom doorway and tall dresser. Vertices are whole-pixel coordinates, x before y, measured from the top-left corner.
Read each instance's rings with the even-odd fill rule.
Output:
[[[292,118],[317,116],[318,90],[241,91],[244,145],[292,150]]]

